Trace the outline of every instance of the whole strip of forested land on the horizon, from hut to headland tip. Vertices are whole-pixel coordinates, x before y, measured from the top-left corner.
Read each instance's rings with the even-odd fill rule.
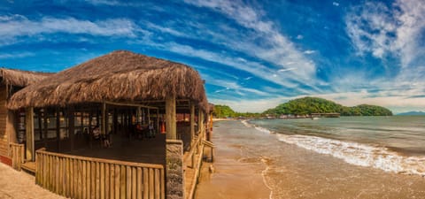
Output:
[[[266,115],[310,115],[312,113],[339,113],[341,116],[392,116],[392,112],[382,106],[360,104],[347,107],[319,97],[303,97],[281,103],[262,113],[236,112],[227,105],[215,105],[213,114],[217,118],[261,117]]]

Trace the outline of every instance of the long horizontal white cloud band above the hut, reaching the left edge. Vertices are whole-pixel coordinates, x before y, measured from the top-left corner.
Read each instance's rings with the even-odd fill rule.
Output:
[[[129,19],[105,19],[90,21],[75,18],[44,17],[30,20],[25,16],[13,15],[0,18],[0,40],[15,39],[19,36],[35,36],[39,34],[91,34],[99,36],[135,37],[143,32]]]

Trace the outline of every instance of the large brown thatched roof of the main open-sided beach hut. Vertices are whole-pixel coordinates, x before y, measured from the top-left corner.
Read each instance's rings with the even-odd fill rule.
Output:
[[[9,109],[73,103],[190,99],[208,109],[204,81],[187,65],[118,50],[50,76],[14,94]]]

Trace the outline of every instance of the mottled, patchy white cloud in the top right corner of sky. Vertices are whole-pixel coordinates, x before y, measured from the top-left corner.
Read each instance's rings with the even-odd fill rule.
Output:
[[[425,4],[421,0],[398,0],[392,7],[367,2],[355,7],[345,18],[347,34],[360,54],[387,55],[411,65],[425,55],[421,38],[425,31]]]

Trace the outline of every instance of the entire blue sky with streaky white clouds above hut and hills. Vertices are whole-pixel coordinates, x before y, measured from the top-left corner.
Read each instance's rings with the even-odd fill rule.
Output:
[[[58,72],[112,50],[197,69],[209,101],[265,111],[301,96],[425,111],[425,3],[0,2],[0,66]]]

